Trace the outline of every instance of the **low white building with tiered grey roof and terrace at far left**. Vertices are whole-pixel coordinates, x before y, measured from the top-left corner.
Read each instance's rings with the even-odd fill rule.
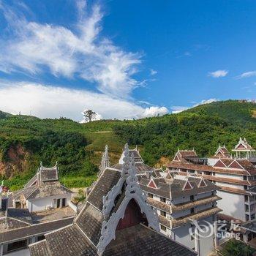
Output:
[[[72,224],[72,192],[59,183],[58,167],[39,167],[24,189],[0,196],[0,256],[28,255],[29,244]]]

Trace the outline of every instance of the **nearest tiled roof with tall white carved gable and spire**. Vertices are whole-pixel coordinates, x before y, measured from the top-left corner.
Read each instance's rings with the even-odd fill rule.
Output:
[[[157,213],[138,185],[135,159],[124,148],[121,170],[105,168],[72,225],[30,246],[31,256],[184,255],[196,253],[159,233]]]

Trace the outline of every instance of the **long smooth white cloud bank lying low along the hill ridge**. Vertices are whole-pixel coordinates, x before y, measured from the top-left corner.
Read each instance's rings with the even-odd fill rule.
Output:
[[[133,102],[86,90],[0,80],[0,110],[40,118],[64,116],[75,121],[82,119],[81,111],[91,109],[102,118],[132,119],[167,113],[165,107],[142,108]]]

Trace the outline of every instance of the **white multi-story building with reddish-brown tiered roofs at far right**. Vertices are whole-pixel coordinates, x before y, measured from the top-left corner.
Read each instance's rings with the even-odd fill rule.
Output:
[[[222,198],[218,201],[222,217],[228,215],[242,222],[255,219],[256,167],[247,159],[252,157],[254,149],[244,141],[240,140],[234,151],[238,157],[241,151],[246,152],[246,158],[231,157],[225,146],[219,146],[214,157],[208,159],[197,157],[195,151],[178,151],[173,161],[166,165],[167,171],[176,170],[184,176],[192,174],[216,184],[219,187],[217,195]]]

